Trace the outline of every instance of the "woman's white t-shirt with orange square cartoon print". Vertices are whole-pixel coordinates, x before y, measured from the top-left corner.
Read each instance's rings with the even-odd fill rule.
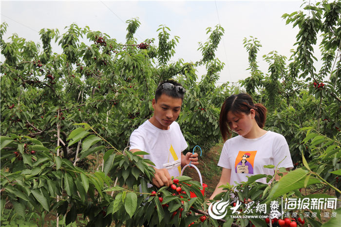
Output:
[[[292,169],[294,167],[284,136],[268,131],[255,139],[247,139],[241,135],[228,139],[223,146],[218,166],[231,169],[230,185],[234,185],[235,181],[246,182],[246,176],[273,175],[275,171],[264,166],[276,167],[280,162],[278,168]],[[266,184],[266,178],[257,181]]]

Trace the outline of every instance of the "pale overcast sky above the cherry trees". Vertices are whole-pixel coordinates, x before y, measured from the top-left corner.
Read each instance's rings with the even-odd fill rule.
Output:
[[[268,64],[263,55],[277,51],[290,57],[295,48],[298,28],[285,24],[284,13],[303,10],[302,0],[296,1],[4,1],[0,2],[1,23],[8,24],[4,38],[13,33],[19,37],[40,42],[39,30],[58,29],[60,34],[71,23],[79,27],[89,26],[124,43],[128,19],[138,18],[141,22],[135,38],[140,43],[155,38],[160,25],[170,28],[173,38],[178,36],[176,54],[171,61],[179,58],[185,62],[200,60],[198,42],[208,39],[206,29],[217,24],[225,29],[218,46],[217,57],[225,63],[218,84],[237,82],[250,76],[248,55],[243,39],[258,38],[262,47],[258,53],[260,69],[267,73]],[[41,43],[41,42],[40,42]],[[57,46],[57,45],[56,45]],[[60,48],[59,48],[60,50]],[[58,52],[58,48],[54,49]],[[1,56],[1,62],[3,62]],[[198,75],[205,74],[205,68],[198,68]]]

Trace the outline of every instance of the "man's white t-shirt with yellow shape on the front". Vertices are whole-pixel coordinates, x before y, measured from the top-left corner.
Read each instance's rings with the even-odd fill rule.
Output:
[[[155,127],[149,120],[133,131],[130,136],[130,150],[146,151],[144,158],[150,159],[157,169],[168,169],[170,176],[180,176],[181,153],[188,147],[177,122],[168,130]]]

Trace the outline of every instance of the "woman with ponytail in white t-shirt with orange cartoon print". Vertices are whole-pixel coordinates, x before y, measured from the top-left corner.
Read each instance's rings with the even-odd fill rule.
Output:
[[[219,127],[225,141],[218,166],[223,168],[220,181],[210,199],[223,192],[221,185],[247,181],[254,174],[273,175],[265,165],[293,168],[289,147],[283,135],[265,131],[266,108],[253,103],[250,95],[229,96],[220,112]],[[227,140],[231,131],[238,135]],[[278,176],[277,176],[278,177]],[[265,178],[257,181],[266,183]]]

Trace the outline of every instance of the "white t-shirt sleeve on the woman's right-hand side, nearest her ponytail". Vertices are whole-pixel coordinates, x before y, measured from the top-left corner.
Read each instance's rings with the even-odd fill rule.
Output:
[[[294,168],[294,165],[292,164],[292,160],[291,160],[289,146],[283,135],[279,134],[279,136],[276,137],[273,146],[274,146],[273,147],[274,166],[277,166],[283,160],[279,164],[278,168],[281,168],[281,167],[290,168],[290,169]]]

